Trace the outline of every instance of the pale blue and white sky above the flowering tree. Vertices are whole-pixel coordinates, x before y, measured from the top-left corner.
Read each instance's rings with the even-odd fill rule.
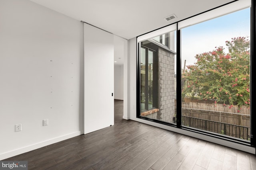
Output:
[[[233,37],[250,36],[250,8],[204,21],[181,30],[182,68],[196,62],[196,54],[212,51],[223,46]],[[227,51],[226,51],[227,52]]]

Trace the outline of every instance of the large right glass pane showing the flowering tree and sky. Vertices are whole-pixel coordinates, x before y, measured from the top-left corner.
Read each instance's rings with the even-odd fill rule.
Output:
[[[182,125],[250,140],[250,9],[182,29]]]

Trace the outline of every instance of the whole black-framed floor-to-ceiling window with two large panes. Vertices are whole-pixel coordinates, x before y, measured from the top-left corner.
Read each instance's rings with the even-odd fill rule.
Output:
[[[222,6],[138,37],[138,117],[250,144],[248,4]]]

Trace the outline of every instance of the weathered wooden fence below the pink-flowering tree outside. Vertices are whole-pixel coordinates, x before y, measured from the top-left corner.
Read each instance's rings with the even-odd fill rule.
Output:
[[[214,104],[214,103],[182,102],[182,117],[196,118],[195,120],[197,119],[208,120],[208,121],[216,122],[217,124],[219,124],[219,126],[225,124],[225,127],[226,127],[226,124],[228,125],[228,127],[231,127],[232,125],[232,128],[235,127],[236,125],[239,126],[239,129],[241,131],[239,133],[238,133],[238,130],[228,129],[226,131],[226,128],[221,129],[225,131],[224,133],[225,135],[239,137],[239,138],[240,136],[237,136],[237,135],[242,135],[241,136],[242,139],[248,140],[248,134],[250,134],[250,109],[246,106],[237,107],[237,106],[230,106],[230,105],[225,106],[223,104]],[[187,119],[186,121],[190,120],[188,118],[186,119]],[[185,123],[186,121],[184,119],[182,123]],[[194,126],[196,127],[198,125],[193,125],[192,127]],[[204,126],[205,125],[202,125],[201,127],[200,125],[196,128],[204,129],[206,128]],[[242,129],[246,129],[246,130],[241,130],[241,127]],[[210,127],[208,126],[208,128],[206,130],[215,132],[212,125]]]

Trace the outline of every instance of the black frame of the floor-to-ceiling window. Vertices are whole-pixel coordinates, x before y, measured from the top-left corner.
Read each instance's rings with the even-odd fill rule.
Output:
[[[236,2],[237,0],[234,0],[232,2],[229,2],[227,4],[231,4],[233,2]],[[227,4],[224,4],[222,6],[225,6]],[[218,6],[216,8],[219,8],[221,6]],[[213,8],[211,10],[214,10],[216,8]],[[256,35],[255,35],[255,30],[256,30],[256,2],[254,0],[251,0],[251,35],[250,35],[250,100],[251,100],[251,105],[250,105],[250,116],[251,116],[251,119],[250,119],[250,128],[251,128],[251,134],[250,134],[250,141],[242,141],[240,139],[234,139],[232,137],[228,137],[228,136],[225,136],[223,137],[222,135],[218,135],[218,134],[214,134],[214,133],[209,133],[209,132],[206,132],[206,131],[202,131],[200,129],[194,129],[194,128],[190,128],[190,127],[182,127],[182,111],[181,111],[181,104],[182,104],[182,98],[181,98],[181,30],[178,29],[178,22],[182,21],[177,21],[175,23],[172,23],[172,24],[177,24],[177,30],[176,30],[176,68],[177,68],[177,72],[176,72],[176,80],[177,80],[177,89],[176,89],[176,92],[177,92],[177,96],[176,96],[176,112],[177,112],[177,115],[176,115],[176,124],[173,124],[173,123],[168,123],[168,122],[163,122],[163,121],[158,121],[158,120],[153,120],[153,119],[147,119],[145,117],[142,117],[140,116],[140,43],[137,43],[137,78],[136,78],[136,81],[137,81],[137,84],[136,84],[136,91],[137,91],[137,95],[136,95],[136,99],[137,99],[137,103],[136,103],[136,106],[137,106],[137,109],[136,109],[136,116],[137,118],[141,118],[141,119],[147,119],[149,121],[154,121],[154,122],[157,122],[157,123],[161,123],[161,124],[164,124],[164,125],[169,125],[169,126],[174,126],[174,127],[177,127],[179,129],[185,129],[185,130],[188,130],[188,131],[192,131],[192,132],[196,132],[196,133],[200,133],[200,134],[203,134],[203,135],[207,135],[207,136],[211,136],[211,137],[215,137],[215,138],[218,138],[218,139],[224,139],[226,141],[230,141],[230,142],[234,142],[234,143],[238,143],[238,144],[242,144],[242,145],[247,145],[247,146],[250,146],[250,147],[256,147],[256,115],[253,115],[252,113],[255,112],[255,109],[254,109],[254,98],[252,96],[255,96],[255,86],[256,84],[252,81],[254,80],[254,75],[256,75],[256,59],[253,58],[254,56],[254,53],[255,53],[255,45],[254,45],[254,42],[256,42]],[[211,10],[207,10],[205,12],[208,12],[208,11],[211,11]],[[202,12],[200,14],[203,14],[205,12]],[[200,14],[197,14],[197,15],[194,15],[194,16],[198,16]],[[191,16],[189,18],[192,18],[194,16]],[[186,18],[188,19],[188,18]],[[186,20],[184,19],[184,20]],[[170,24],[170,25],[172,25]],[[166,26],[169,26],[169,25],[166,25]],[[155,31],[155,30],[154,30]]]

